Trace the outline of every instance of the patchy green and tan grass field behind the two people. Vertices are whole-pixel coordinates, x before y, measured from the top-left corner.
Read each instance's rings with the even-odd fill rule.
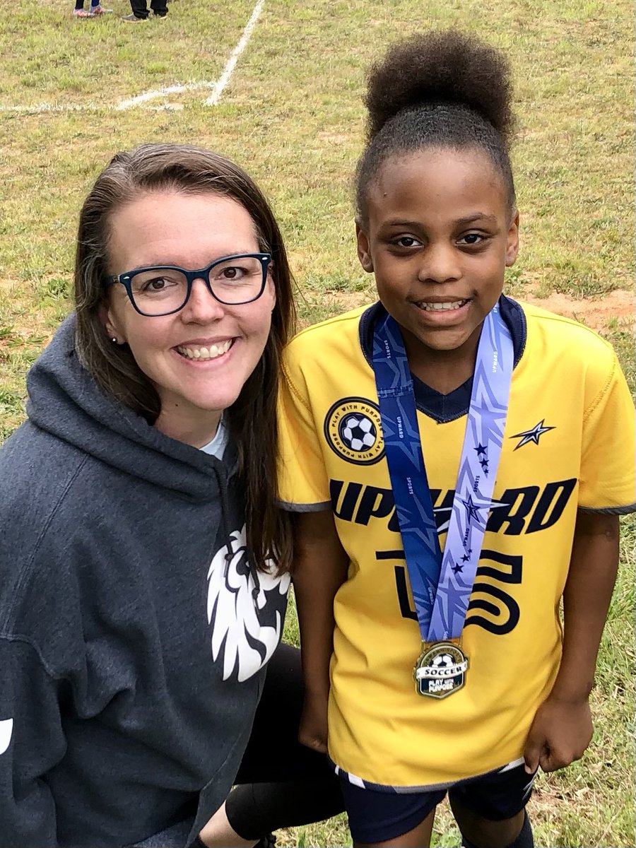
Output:
[[[371,301],[350,199],[365,69],[389,42],[422,27],[458,25],[509,53],[522,249],[508,291],[558,295],[571,314],[596,315],[590,320],[616,346],[633,387],[627,0],[265,0],[216,105],[205,100],[253,0],[173,0],[166,20],[139,25],[119,20],[126,0],[106,3],[114,14],[97,20],[75,20],[70,0],[14,0],[0,15],[0,438],[23,419],[25,372],[70,310],[79,206],[119,149],[192,142],[245,166],[282,224],[302,321]],[[144,92],[154,93],[119,108]],[[622,306],[599,317],[590,302]],[[529,806],[537,845],[634,845],[633,550],[625,522],[592,696],[594,742],[583,761],[538,780]],[[289,639],[294,627],[291,616]],[[350,840],[338,819],[281,833],[279,843]],[[460,845],[445,806],[434,844]]]

